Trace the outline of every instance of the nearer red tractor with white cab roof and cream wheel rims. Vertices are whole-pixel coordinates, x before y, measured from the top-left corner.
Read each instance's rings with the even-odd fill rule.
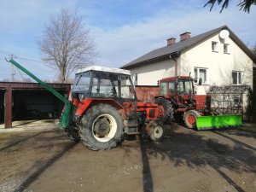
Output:
[[[160,141],[164,109],[155,103],[137,102],[130,71],[86,67],[76,73],[70,98],[77,109],[70,113],[67,134],[92,150],[114,148],[124,135],[145,131],[149,140]]]

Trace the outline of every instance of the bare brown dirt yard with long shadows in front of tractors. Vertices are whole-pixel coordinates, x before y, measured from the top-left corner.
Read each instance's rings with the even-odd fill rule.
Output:
[[[57,128],[3,131],[0,191],[256,191],[256,125],[166,132],[95,152]]]

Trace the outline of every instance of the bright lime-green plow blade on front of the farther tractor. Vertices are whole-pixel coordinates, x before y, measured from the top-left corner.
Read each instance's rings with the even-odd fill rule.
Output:
[[[198,131],[237,127],[242,125],[241,120],[241,114],[201,116],[196,118],[196,127]]]

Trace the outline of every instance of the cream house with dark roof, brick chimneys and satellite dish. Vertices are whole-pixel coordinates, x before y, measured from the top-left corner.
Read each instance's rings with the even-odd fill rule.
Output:
[[[198,94],[205,94],[211,85],[247,84],[253,87],[253,64],[256,56],[230,30],[221,26],[191,37],[190,32],[167,39],[165,47],[154,49],[125,64],[137,76],[138,85],[156,85],[158,80],[177,75],[202,79]]]

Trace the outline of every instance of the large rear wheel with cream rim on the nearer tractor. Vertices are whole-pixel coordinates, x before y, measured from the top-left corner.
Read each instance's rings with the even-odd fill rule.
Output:
[[[99,104],[84,113],[80,125],[80,137],[91,150],[106,150],[121,143],[123,119],[116,108]]]

